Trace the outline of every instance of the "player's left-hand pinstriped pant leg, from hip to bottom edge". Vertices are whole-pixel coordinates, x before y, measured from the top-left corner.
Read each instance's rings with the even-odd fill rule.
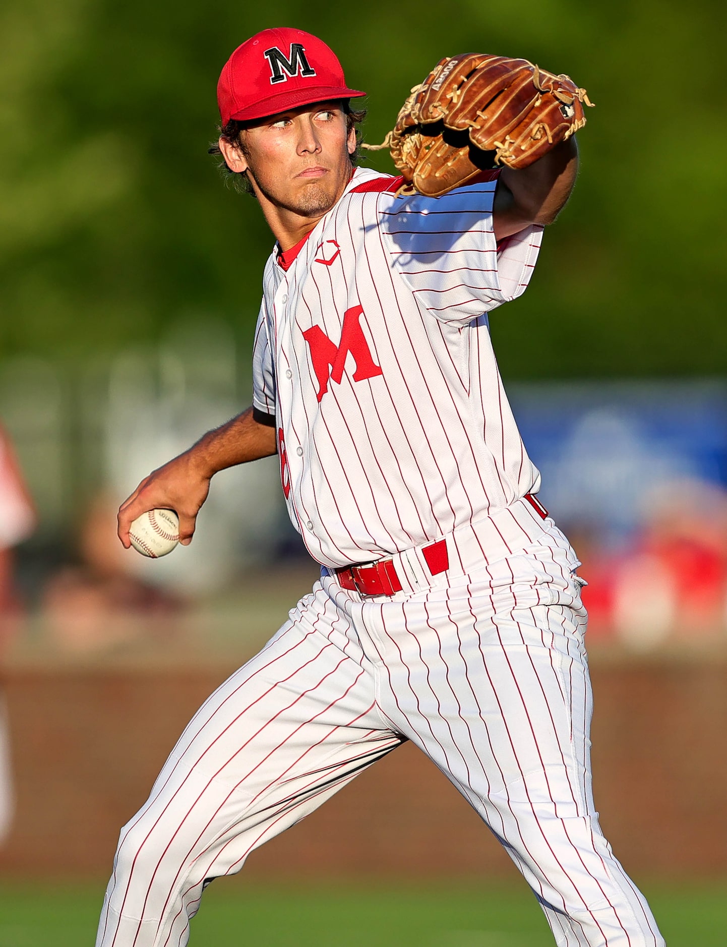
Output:
[[[136,942],[142,926],[145,943],[170,936],[205,881],[239,870],[399,745],[348,631],[316,588],[200,708],[121,831],[99,943],[116,930]]]

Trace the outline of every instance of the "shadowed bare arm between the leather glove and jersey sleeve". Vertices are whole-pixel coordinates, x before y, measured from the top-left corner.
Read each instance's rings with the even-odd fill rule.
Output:
[[[576,183],[578,150],[574,136],[543,155],[529,168],[504,168],[495,194],[498,239],[532,223],[553,223]]]

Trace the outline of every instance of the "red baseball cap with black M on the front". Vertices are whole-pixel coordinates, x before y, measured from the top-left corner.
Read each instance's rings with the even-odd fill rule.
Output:
[[[358,98],[332,49],[302,29],[263,29],[235,50],[217,83],[222,125],[329,98]]]

